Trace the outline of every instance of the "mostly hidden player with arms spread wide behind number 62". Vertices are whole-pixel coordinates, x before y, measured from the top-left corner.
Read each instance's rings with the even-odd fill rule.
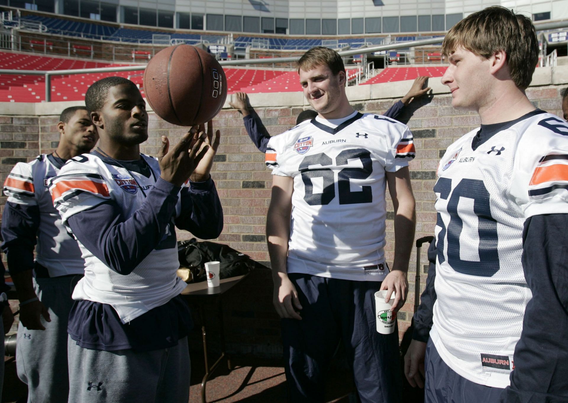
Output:
[[[404,95],[402,99],[396,101],[383,116],[395,119],[402,113],[404,107],[408,106],[415,97],[426,94],[430,90],[430,87],[423,88],[427,79],[427,76],[417,77],[407,94]],[[247,129],[247,134],[250,139],[258,150],[266,152],[266,146],[270,140],[268,130],[266,130],[264,124],[262,124],[262,120],[256,111],[254,111],[254,108],[250,106],[247,94],[244,92],[235,92],[233,95],[234,99],[229,101],[229,105],[235,109],[239,109],[239,112],[243,115],[245,129]],[[312,120],[316,116],[318,116],[318,112],[306,109],[306,111],[302,111],[298,114],[296,125],[299,125],[304,120]]]

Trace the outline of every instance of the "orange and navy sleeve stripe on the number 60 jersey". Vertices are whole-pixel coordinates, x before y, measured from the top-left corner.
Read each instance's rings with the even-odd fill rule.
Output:
[[[541,158],[529,183],[529,197],[551,196],[568,190],[568,154],[550,154]]]

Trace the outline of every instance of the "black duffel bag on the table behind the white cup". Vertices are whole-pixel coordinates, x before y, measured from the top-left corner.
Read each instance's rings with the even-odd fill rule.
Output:
[[[248,255],[228,245],[211,241],[198,242],[195,238],[178,241],[178,258],[180,267],[190,269],[192,278],[189,282],[192,283],[207,280],[207,262],[219,262],[220,279],[247,274],[257,265]]]

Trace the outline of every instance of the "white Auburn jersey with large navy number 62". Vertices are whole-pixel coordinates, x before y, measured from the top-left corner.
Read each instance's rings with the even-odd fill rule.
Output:
[[[414,156],[408,127],[374,114],[335,128],[304,121],[270,138],[267,166],[294,178],[287,272],[382,281],[385,171]]]

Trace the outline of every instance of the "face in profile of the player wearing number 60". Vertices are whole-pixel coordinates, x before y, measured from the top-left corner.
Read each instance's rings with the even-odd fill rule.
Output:
[[[448,61],[441,81],[452,92],[452,106],[479,111],[491,94],[490,60],[458,46]]]

